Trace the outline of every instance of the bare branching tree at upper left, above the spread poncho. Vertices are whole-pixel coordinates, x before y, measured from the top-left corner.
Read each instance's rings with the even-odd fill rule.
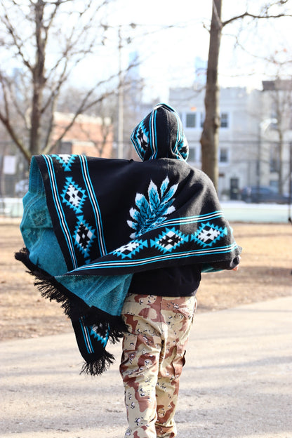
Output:
[[[0,121],[30,161],[50,153],[79,114],[114,93],[112,77],[97,81],[77,99],[74,114],[52,140],[54,112],[70,74],[102,45],[110,0],[0,0],[0,46],[14,65],[0,67]],[[99,93],[96,90],[99,90]]]

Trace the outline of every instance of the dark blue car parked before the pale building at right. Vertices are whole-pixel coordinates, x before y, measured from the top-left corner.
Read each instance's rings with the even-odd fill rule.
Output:
[[[288,204],[289,197],[286,194],[279,194],[271,187],[251,186],[244,187],[241,192],[241,199],[245,202],[274,202],[276,204]]]

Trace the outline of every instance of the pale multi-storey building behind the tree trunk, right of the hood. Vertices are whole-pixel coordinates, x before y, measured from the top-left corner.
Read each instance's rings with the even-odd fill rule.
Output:
[[[190,145],[189,163],[201,168],[200,137],[204,123],[204,89],[172,88],[169,103],[183,121]],[[230,87],[220,90],[219,182],[221,199],[239,199],[246,186],[271,186],[277,190],[277,120],[267,93]],[[285,131],[283,160],[284,192],[288,192],[292,126]]]

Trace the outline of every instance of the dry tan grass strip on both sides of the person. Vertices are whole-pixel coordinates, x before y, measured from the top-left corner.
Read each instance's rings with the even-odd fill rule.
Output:
[[[232,224],[244,248],[239,271],[203,274],[198,312],[288,296],[292,293],[290,224]],[[0,223],[0,340],[71,331],[57,303],[41,298],[25,267],[14,259],[22,247],[18,224]]]

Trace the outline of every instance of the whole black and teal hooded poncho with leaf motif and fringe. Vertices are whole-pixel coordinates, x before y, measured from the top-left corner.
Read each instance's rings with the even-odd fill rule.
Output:
[[[211,180],[186,163],[178,114],[159,104],[134,129],[142,161],[82,155],[32,158],[16,253],[44,297],[71,318],[83,371],[102,373],[122,336],[133,273],[226,267],[239,255]]]

